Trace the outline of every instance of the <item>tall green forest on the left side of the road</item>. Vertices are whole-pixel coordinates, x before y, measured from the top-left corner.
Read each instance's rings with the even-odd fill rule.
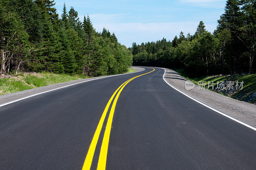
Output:
[[[1,74],[47,71],[100,76],[125,73],[132,53],[106,28],[96,32],[64,3],[61,16],[52,0],[0,1]]]

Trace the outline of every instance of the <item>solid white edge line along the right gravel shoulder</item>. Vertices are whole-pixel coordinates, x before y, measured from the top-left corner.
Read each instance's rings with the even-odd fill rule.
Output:
[[[160,68],[160,67],[158,67],[158,68]],[[164,68],[162,68],[162,69],[164,69]],[[164,79],[164,81],[165,81],[169,86],[171,86],[173,89],[179,91],[180,93],[182,93],[183,95],[185,95],[185,96],[191,98],[192,100],[196,101],[197,103],[200,103],[200,104],[204,105],[205,107],[208,107],[209,109],[211,109],[211,110],[213,110],[213,111],[215,111],[215,112],[217,112],[217,113],[220,113],[221,115],[226,116],[227,118],[232,119],[232,120],[234,120],[234,121],[236,121],[236,122],[238,122],[238,123],[240,123],[240,124],[242,124],[242,125],[244,125],[244,126],[246,126],[246,127],[248,127],[248,128],[251,128],[251,129],[253,129],[253,130],[256,131],[256,128],[254,128],[254,127],[252,127],[252,126],[250,126],[250,125],[247,125],[246,123],[241,122],[240,120],[236,120],[235,118],[232,118],[232,117],[230,117],[230,116],[228,116],[228,115],[226,115],[226,114],[224,114],[224,113],[222,113],[222,112],[220,112],[220,111],[218,111],[218,110],[216,110],[216,109],[213,109],[212,107],[210,107],[210,106],[208,106],[208,105],[206,105],[206,104],[204,104],[204,103],[202,103],[202,102],[200,102],[200,101],[194,99],[193,97],[188,96],[186,93],[183,93],[183,92],[180,91],[179,89],[176,89],[175,87],[173,87],[170,83],[168,83],[168,82],[165,80],[165,78],[164,78],[165,72],[166,72],[166,70],[164,69],[163,79]]]

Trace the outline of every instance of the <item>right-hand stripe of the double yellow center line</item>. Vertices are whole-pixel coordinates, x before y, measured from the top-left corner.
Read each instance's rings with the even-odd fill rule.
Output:
[[[148,67],[148,68],[150,68],[150,67]],[[153,69],[153,71],[155,70],[154,68],[152,68],[152,69]],[[151,72],[153,72],[153,71],[151,71]],[[151,73],[151,72],[148,72],[148,73]],[[148,73],[145,73],[145,74],[148,74]],[[142,75],[145,75],[145,74],[141,74],[139,76],[142,76]],[[139,76],[137,76],[137,77],[139,77]],[[122,90],[124,89],[124,87],[126,86],[126,84],[128,84],[130,81],[132,81],[133,79],[135,79],[137,77],[134,77],[134,78],[130,79],[129,81],[127,81],[124,84],[124,86],[117,93],[116,98],[115,98],[115,100],[112,104],[110,114],[108,116],[108,122],[107,122],[107,126],[106,126],[106,129],[105,129],[103,141],[102,141],[101,148],[100,148],[100,157],[99,157],[98,167],[97,167],[97,169],[99,169],[99,170],[106,168],[107,153],[108,153],[108,142],[109,142],[110,130],[111,130],[112,120],[113,120],[113,116],[114,116],[114,112],[115,112],[115,108],[116,108],[117,99],[118,99],[120,93],[122,92]]]

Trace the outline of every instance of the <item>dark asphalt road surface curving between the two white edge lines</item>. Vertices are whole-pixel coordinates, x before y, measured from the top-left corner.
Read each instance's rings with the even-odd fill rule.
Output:
[[[113,93],[152,70],[76,84],[0,107],[0,169],[82,169]],[[163,74],[155,68],[127,83],[116,104],[114,96],[91,169],[104,155],[105,138],[106,169],[256,169],[256,131],[184,96]],[[104,135],[109,126],[110,136]]]

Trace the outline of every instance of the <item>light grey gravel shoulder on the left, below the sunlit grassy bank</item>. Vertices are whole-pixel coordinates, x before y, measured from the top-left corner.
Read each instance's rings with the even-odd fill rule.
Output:
[[[143,68],[140,68],[140,67],[132,67],[132,68],[136,70],[135,72],[132,72],[132,73],[136,73],[136,72],[143,70]],[[131,73],[124,73],[124,74],[131,74]],[[116,74],[116,75],[122,75],[122,74]],[[74,80],[74,81],[67,81],[67,82],[63,82],[63,83],[52,84],[49,86],[43,86],[43,87],[38,87],[38,88],[34,88],[34,89],[28,89],[28,90],[18,91],[15,93],[1,95],[0,96],[0,105],[8,103],[8,102],[12,102],[14,100],[19,100],[24,97],[36,95],[38,93],[42,93],[42,92],[45,92],[48,90],[57,89],[57,88],[61,88],[64,86],[68,86],[68,85],[72,85],[72,84],[76,84],[76,83],[80,83],[80,82],[86,82],[89,80],[94,80],[94,79],[98,79],[101,77],[110,77],[110,76],[113,76],[113,75],[92,77],[92,78],[87,78],[87,79],[79,79],[79,80]]]

